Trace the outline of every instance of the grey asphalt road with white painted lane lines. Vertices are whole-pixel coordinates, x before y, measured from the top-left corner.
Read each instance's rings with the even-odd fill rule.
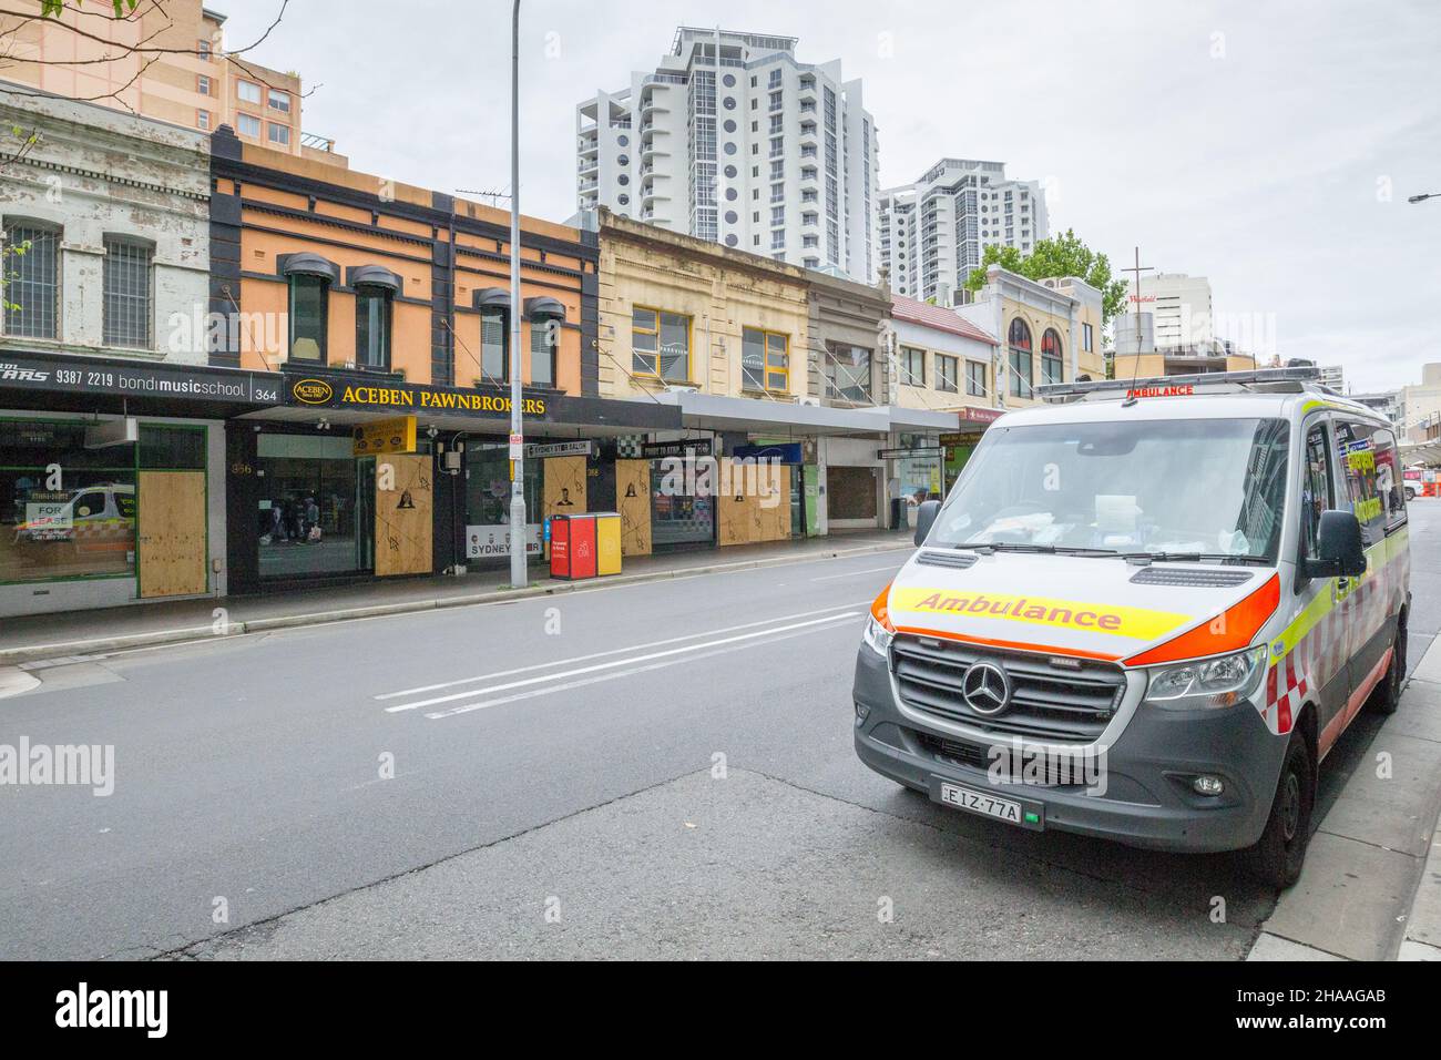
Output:
[[[1412,513],[1415,662],[1441,502]],[[1244,956],[1275,896],[1232,857],[1016,831],[860,766],[857,636],[902,555],[39,671],[0,743],[114,744],[115,789],[0,787],[0,958]]]

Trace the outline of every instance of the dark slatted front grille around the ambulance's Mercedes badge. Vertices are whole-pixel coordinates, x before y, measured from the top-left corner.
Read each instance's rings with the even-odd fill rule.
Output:
[[[1010,704],[1000,714],[976,712],[961,692],[965,671],[980,659],[999,662],[1010,678]],[[911,710],[1003,738],[1089,743],[1105,731],[1125,692],[1125,673],[1110,663],[1056,665],[1045,655],[912,633],[892,640],[891,669]]]

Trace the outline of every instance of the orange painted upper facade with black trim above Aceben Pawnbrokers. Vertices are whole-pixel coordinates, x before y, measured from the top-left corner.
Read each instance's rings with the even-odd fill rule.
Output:
[[[213,138],[222,150],[226,134]],[[301,366],[291,349],[287,261],[304,254],[334,271],[326,293],[326,368],[356,368],[356,290],[347,277],[352,270],[380,267],[399,278],[389,301],[389,375],[438,387],[500,382],[481,366],[477,293],[509,293],[509,212],[248,143],[239,151],[235,146],[231,137],[229,150],[239,157],[232,166],[218,164],[216,195],[231,196],[231,219],[238,212],[239,268],[238,277],[235,270],[229,277],[216,270],[210,304],[212,312],[241,320],[238,358],[231,350],[229,363],[254,371],[281,371],[291,361],[293,369]],[[586,245],[579,229],[536,218],[522,218],[522,232],[523,304],[543,299],[552,314],[533,316],[527,309],[522,319],[522,382],[540,385],[532,332],[545,327],[556,346],[553,389],[595,394],[582,371],[582,301],[586,278],[592,290],[597,283],[594,241]],[[213,237],[223,245],[226,229]],[[509,300],[504,306],[509,312]],[[509,332],[507,322],[507,343]]]

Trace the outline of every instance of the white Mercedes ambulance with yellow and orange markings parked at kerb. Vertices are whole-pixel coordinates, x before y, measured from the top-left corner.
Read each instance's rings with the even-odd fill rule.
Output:
[[[1391,424],[1314,368],[1036,389],[916,512],[856,753],[1001,826],[1245,851],[1291,885],[1317,770],[1406,672]]]

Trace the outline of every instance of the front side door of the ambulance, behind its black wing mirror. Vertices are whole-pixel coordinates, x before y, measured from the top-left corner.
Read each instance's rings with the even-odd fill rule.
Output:
[[[1295,607],[1298,629],[1287,659],[1290,682],[1304,685],[1306,698],[1317,704],[1320,730],[1346,710],[1350,695],[1346,643],[1346,578],[1307,578],[1304,560],[1317,558],[1317,531],[1321,512],[1339,508],[1336,447],[1333,425],[1324,412],[1306,420],[1301,449],[1301,544],[1295,570]],[[1294,661],[1294,662],[1293,662]],[[1324,746],[1323,746],[1324,753]]]

